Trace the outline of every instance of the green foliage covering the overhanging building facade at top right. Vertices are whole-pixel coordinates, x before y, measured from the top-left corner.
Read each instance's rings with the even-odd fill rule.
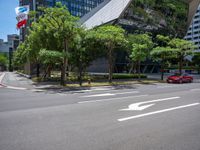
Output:
[[[140,24],[158,27],[173,37],[185,35],[188,5],[183,0],[133,0],[132,7],[133,14],[141,18]]]

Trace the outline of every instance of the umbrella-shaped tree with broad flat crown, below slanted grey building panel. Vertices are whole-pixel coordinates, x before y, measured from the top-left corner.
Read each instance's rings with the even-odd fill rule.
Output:
[[[114,50],[126,43],[125,31],[118,26],[106,25],[96,29],[96,37],[107,50],[109,64],[109,82],[112,82]]]

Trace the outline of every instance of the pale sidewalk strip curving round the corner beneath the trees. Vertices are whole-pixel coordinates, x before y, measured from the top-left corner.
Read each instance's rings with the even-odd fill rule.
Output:
[[[18,74],[16,72],[4,72],[5,76],[1,83],[7,88],[11,89],[21,89],[21,90],[35,90],[35,91],[80,91],[80,90],[93,90],[98,88],[133,88],[138,83],[137,81],[129,80],[118,80],[115,85],[109,85],[107,82],[106,85],[93,82],[93,86],[78,86],[78,84],[68,84],[68,86],[60,86],[58,82],[33,82],[28,77],[23,74]],[[97,84],[97,85],[95,85]],[[142,84],[142,82],[140,83]]]

